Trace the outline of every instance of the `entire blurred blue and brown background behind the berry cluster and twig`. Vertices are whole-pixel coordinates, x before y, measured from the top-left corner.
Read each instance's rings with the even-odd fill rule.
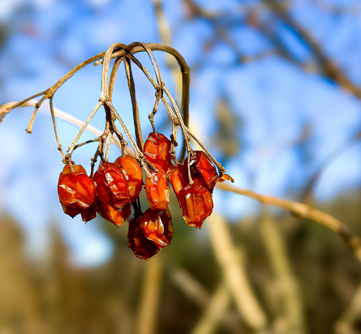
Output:
[[[234,185],[308,203],[360,235],[360,33],[357,0],[1,0],[0,104],[44,91],[114,42],[171,45],[191,69],[190,128]],[[154,54],[180,103],[178,65]],[[145,137],[154,90],[133,74]],[[79,71],[55,107],[85,120],[100,76],[101,66]],[[134,132],[123,66],[113,104]],[[361,267],[338,235],[216,188],[202,230],[172,194],[171,245],[137,259],[127,222],[62,212],[48,104],[30,135],[31,113],[14,109],[0,125],[1,334],[361,333]],[[66,149],[78,128],[57,122]],[[103,129],[104,110],[91,124]],[[164,107],[155,124],[171,133]],[[95,149],[73,159],[89,172]],[[109,160],[119,155],[114,146]]]

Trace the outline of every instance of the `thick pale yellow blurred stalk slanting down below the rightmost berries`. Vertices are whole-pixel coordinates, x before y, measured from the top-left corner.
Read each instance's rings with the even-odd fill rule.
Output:
[[[207,226],[224,280],[240,315],[255,333],[269,333],[266,328],[266,315],[256,299],[245,272],[243,251],[238,252],[235,249],[225,219],[214,212],[207,218]]]

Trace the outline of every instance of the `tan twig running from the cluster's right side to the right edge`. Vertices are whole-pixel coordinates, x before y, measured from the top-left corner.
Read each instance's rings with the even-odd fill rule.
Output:
[[[343,224],[341,221],[332,217],[331,215],[309,207],[306,204],[292,202],[273,196],[259,195],[256,192],[250,190],[231,186],[226,182],[218,183],[217,185],[218,188],[222,190],[232,191],[236,192],[237,194],[251,197],[262,204],[274,205],[283,210],[290,211],[292,214],[298,217],[311,219],[321,225],[328,227],[330,230],[336,232],[344,240],[347,246],[349,246],[353,251],[356,259],[361,263],[361,238],[353,235],[347,225]]]

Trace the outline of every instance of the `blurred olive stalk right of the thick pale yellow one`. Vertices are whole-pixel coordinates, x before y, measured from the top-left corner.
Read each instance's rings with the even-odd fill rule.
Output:
[[[285,332],[288,334],[304,334],[306,331],[301,295],[297,280],[292,273],[282,234],[269,215],[262,218],[260,231],[275,275],[282,312],[287,318],[287,330]]]

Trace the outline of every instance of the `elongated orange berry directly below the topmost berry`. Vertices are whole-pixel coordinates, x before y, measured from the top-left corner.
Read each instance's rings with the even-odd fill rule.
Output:
[[[149,171],[153,178],[145,177],[145,194],[147,195],[149,208],[155,211],[165,211],[169,204],[170,188],[165,172],[159,169],[158,173]]]

